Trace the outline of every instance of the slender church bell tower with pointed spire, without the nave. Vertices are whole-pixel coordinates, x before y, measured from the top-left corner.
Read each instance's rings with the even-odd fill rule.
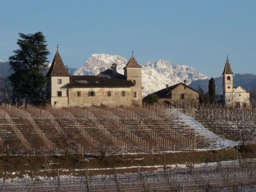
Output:
[[[233,102],[233,72],[229,65],[228,57],[222,73],[223,77],[223,99],[224,103],[229,105]]]

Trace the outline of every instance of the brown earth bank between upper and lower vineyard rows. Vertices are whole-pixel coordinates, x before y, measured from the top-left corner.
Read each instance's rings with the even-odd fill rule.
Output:
[[[202,152],[182,152],[169,154],[139,154],[120,156],[88,156],[69,155],[65,156],[11,156],[9,161],[7,156],[0,157],[0,177],[6,172],[15,172],[22,176],[28,173],[36,175],[56,176],[57,172],[68,175],[77,170],[78,175],[83,175],[89,168],[90,175],[113,174],[113,168],[130,166],[153,166],[164,164],[189,164],[208,163],[225,160],[236,160],[244,158],[256,158],[256,144],[242,145],[239,148],[223,149],[218,151]],[[93,170],[93,169],[97,170]],[[110,168],[110,169],[107,169]],[[118,169],[122,172],[121,169]],[[126,170],[127,171],[127,170]],[[128,172],[136,172],[136,168],[129,169]],[[15,175],[15,177],[17,174]]]

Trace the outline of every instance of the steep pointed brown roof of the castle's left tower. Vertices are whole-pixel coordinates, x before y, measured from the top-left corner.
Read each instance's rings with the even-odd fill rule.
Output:
[[[56,54],[54,56],[52,65],[51,65],[46,76],[70,77],[70,74],[69,74],[68,70],[66,69],[58,51],[56,52]]]

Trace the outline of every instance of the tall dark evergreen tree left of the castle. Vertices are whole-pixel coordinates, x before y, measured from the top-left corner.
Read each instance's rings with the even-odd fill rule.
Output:
[[[9,76],[13,94],[17,102],[37,104],[45,99],[47,79],[44,70],[50,52],[42,32],[28,35],[19,33],[19,37],[19,49],[13,51],[15,55],[9,57],[11,69],[14,71]]]

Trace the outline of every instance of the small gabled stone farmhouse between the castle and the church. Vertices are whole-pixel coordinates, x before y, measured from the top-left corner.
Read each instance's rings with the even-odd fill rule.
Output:
[[[180,102],[199,102],[199,91],[189,87],[186,81],[175,84],[155,92],[159,103],[176,104]]]

